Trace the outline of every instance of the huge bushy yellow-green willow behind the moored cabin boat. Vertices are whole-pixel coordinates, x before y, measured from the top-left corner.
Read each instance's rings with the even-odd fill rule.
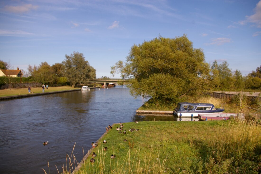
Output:
[[[209,65],[202,49],[193,48],[186,35],[159,36],[132,46],[126,62],[111,66],[111,74],[121,73],[135,97],[177,100],[206,87]]]

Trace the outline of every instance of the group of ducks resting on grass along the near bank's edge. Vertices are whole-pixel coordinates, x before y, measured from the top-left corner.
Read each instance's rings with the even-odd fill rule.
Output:
[[[135,123],[138,123],[138,121],[135,121]],[[121,132],[121,131],[123,130],[122,128],[123,128],[123,124],[120,123],[120,127],[117,127],[116,130],[117,130],[117,131],[120,131],[119,133],[122,133],[122,132]],[[106,131],[109,131],[110,129],[112,129],[112,126],[111,126],[111,125],[109,125],[109,126],[106,127]],[[139,131],[139,129],[135,129],[135,128],[129,129],[129,131],[131,131],[131,132],[133,132],[133,131],[135,131],[135,130],[136,130],[136,131]],[[126,130],[124,130],[123,134],[126,134]],[[127,142],[127,139],[124,139],[123,141]],[[107,141],[106,141],[106,140],[103,140],[103,144],[106,144],[106,143],[107,143]],[[92,142],[92,147],[95,148],[96,146],[98,146],[98,144]],[[104,148],[103,148],[103,151],[107,151],[107,150],[108,150],[108,147],[104,147]],[[94,159],[94,158],[95,158],[96,156],[97,156],[97,154],[96,154],[95,152],[93,152],[93,153],[92,153],[92,158],[90,159],[90,162],[91,162],[91,163],[94,163],[94,162],[95,162],[95,159]],[[111,155],[111,159],[114,159],[115,157],[116,157],[116,156],[115,156],[114,154]]]

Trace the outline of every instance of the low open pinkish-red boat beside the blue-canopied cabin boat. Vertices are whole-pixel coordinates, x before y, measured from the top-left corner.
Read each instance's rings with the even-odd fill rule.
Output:
[[[228,120],[231,117],[238,116],[236,113],[214,113],[214,114],[198,114],[199,120]]]

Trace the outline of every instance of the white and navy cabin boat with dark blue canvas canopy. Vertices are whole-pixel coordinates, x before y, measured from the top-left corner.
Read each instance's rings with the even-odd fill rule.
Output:
[[[174,116],[178,117],[198,117],[198,114],[222,113],[224,109],[215,108],[210,103],[178,103],[174,109]]]

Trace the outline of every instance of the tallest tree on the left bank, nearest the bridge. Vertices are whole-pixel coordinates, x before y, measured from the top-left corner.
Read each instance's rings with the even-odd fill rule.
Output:
[[[96,70],[89,64],[82,53],[73,52],[71,55],[65,55],[64,76],[74,87],[78,83],[86,84],[89,79],[96,78]]]

